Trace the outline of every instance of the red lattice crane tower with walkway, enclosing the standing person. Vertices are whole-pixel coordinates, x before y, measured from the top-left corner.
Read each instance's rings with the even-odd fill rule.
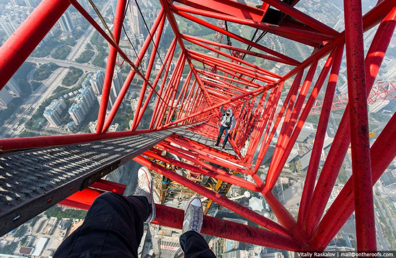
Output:
[[[0,139],[0,235],[57,203],[88,209],[95,197],[104,191],[123,194],[125,185],[102,178],[133,159],[157,174],[157,179],[164,182],[160,183],[160,187],[170,187],[171,183],[180,185],[178,189],[186,192],[189,189],[191,193],[204,196],[212,203],[263,227],[204,216],[203,234],[290,251],[323,251],[354,213],[357,250],[376,250],[372,185],[395,158],[396,115],[393,114],[370,147],[366,103],[395,30],[394,0],[379,1],[363,16],[361,1],[344,1],[345,32],[338,32],[295,8],[298,0],[264,0],[260,8],[232,0],[206,0],[204,4],[198,0],[159,0],[162,8],[151,29],[148,28],[150,33],[136,60],[131,60],[119,47],[126,2],[118,0],[116,22],[110,32],[104,31],[77,0],[42,0],[0,47],[0,89],[4,90],[4,85],[70,5],[109,44],[95,133]],[[300,7],[303,6],[304,1],[300,1]],[[97,14],[101,17],[99,12]],[[240,27],[248,26],[262,32],[262,35],[287,38],[313,51],[305,60],[296,60],[272,49],[266,41],[256,42],[255,38],[231,33],[200,16]],[[178,26],[179,18],[233,38],[248,48],[189,35]],[[104,19],[102,21],[105,22]],[[151,68],[165,23],[172,28],[174,38],[170,45],[162,46],[168,51],[161,59],[159,71],[154,72]],[[372,29],[377,25],[377,29]],[[369,29],[376,32],[365,58],[363,33]],[[185,44],[187,42],[191,44]],[[226,58],[193,50],[188,45],[203,47]],[[271,72],[213,46],[268,60],[273,66],[281,63],[288,66],[290,72]],[[344,46],[349,101],[316,182]],[[143,72],[139,67],[148,49],[152,51],[151,55],[148,54],[148,69]],[[180,55],[174,70],[169,73],[174,53]],[[117,55],[128,64],[130,71],[106,115]],[[324,67],[318,68],[318,62],[322,60]],[[224,75],[200,70],[194,65],[195,62]],[[184,69],[189,70],[189,75],[178,89]],[[320,75],[314,80],[316,71]],[[320,92],[329,73],[298,214],[293,214],[272,190],[316,101],[317,92]],[[150,75],[155,78],[151,80]],[[131,129],[108,132],[135,76],[140,77],[143,84]],[[163,76],[169,76],[168,80],[160,80]],[[212,81],[211,84],[216,87],[208,86],[204,83],[205,76],[221,80],[221,83]],[[287,80],[292,81],[290,88],[285,87]],[[282,96],[283,105],[275,116],[281,93],[286,88],[286,96]],[[151,103],[152,114],[145,123],[143,117]],[[233,109],[237,129],[231,133],[230,144],[220,149],[214,143],[218,135],[218,109],[224,105]],[[250,114],[247,119],[246,113]],[[280,126],[281,120],[283,123]],[[259,167],[278,126],[278,142],[268,171],[262,175]],[[249,141],[241,142],[238,140],[241,137],[249,138]],[[352,176],[326,209],[349,146]],[[165,155],[165,152],[172,155]],[[187,171],[192,172],[190,176],[185,173]],[[205,178],[208,184],[215,183],[215,189],[197,184],[200,177],[202,182]],[[218,182],[262,194],[273,212],[271,218],[276,218],[276,221],[216,192]],[[218,190],[222,189],[219,187]],[[155,204],[153,224],[181,228],[184,211],[179,206],[165,206],[166,198],[170,200],[171,196],[164,196],[163,204]]]

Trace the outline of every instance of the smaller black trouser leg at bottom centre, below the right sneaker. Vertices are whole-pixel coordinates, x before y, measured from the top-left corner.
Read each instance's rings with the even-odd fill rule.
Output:
[[[181,235],[180,247],[184,252],[184,258],[216,258],[203,236],[196,231],[187,231]]]

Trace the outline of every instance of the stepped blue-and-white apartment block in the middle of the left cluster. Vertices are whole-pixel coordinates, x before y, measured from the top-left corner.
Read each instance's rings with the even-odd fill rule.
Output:
[[[95,104],[95,101],[97,101],[91,85],[81,88],[78,91],[80,94],[75,98],[77,103],[71,105],[69,109],[69,114],[76,125],[80,125],[91,107]]]

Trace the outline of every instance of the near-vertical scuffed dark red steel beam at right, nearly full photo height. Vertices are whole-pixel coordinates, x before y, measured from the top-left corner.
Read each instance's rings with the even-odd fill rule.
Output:
[[[376,250],[361,0],[344,0],[352,178],[358,251]]]

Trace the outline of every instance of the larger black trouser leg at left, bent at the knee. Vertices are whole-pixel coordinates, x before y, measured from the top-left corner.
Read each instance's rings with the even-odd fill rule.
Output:
[[[95,199],[84,223],[59,246],[59,257],[138,257],[143,222],[151,208],[143,196],[103,193]]]

